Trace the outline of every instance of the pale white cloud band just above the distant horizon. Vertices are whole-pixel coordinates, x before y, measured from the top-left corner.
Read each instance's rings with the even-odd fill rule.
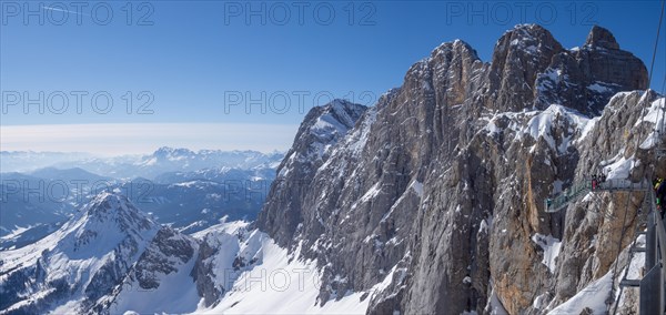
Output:
[[[2,151],[149,153],[160,146],[191,150],[285,151],[297,125],[221,123],[104,123],[0,126]]]

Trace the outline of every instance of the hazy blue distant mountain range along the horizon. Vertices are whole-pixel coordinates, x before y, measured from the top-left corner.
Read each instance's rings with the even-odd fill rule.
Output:
[[[57,163],[26,173],[0,173],[0,251],[44,237],[103,191],[123,193],[157,222],[188,233],[221,220],[252,221],[283,158],[256,151],[171,148],[134,158],[63,161],[65,155],[2,152],[3,165],[47,156]]]

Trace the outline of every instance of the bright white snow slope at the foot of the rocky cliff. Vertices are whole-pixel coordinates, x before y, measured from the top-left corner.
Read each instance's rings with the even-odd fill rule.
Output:
[[[297,260],[268,235],[253,232],[241,253],[258,260],[235,281],[214,307],[198,314],[363,314],[369,294],[350,292],[321,305],[317,301],[321,271],[316,262]]]

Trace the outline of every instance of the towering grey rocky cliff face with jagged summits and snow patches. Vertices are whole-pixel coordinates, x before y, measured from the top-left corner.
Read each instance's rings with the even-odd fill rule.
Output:
[[[443,43],[323,151],[310,139],[326,109],[313,110],[258,226],[317,260],[321,304],[389,278],[365,297],[369,313],[544,313],[608,272],[622,228],[598,214],[623,216],[616,204],[629,199],[624,224],[635,224],[639,196],[596,195],[557,214],[544,200],[630,156],[643,165],[633,179],[664,163],[633,149],[657,95],[618,94],[646,89],[646,73],[598,27],[566,50],[544,28],[518,26],[491,63]]]

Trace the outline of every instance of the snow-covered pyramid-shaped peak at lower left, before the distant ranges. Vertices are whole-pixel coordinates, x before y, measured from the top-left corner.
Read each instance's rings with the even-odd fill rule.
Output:
[[[36,244],[2,254],[0,309],[82,313],[112,293],[162,227],[102,193]]]

